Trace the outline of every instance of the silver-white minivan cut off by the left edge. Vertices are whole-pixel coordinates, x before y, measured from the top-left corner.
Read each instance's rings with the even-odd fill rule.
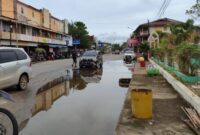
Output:
[[[0,47],[0,89],[17,85],[27,88],[31,74],[31,59],[21,48]]]

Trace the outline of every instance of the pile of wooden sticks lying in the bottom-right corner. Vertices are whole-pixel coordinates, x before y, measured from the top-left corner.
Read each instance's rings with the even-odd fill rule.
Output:
[[[200,114],[195,109],[181,107],[189,120],[183,120],[197,135],[200,135]]]

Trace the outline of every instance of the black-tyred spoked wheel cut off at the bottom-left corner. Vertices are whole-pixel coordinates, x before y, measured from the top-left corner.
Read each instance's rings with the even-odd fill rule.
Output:
[[[11,121],[11,123],[12,123],[12,128],[13,128],[13,135],[18,135],[18,124],[17,124],[17,120],[15,119],[15,117],[13,116],[13,114],[10,112],[10,111],[8,111],[8,110],[6,110],[6,109],[4,109],[4,108],[0,108],[0,117],[2,116],[2,115],[5,115],[6,117],[8,117],[8,119]],[[0,130],[0,134],[1,135],[7,135],[6,133],[7,133],[7,130],[8,129],[6,129],[6,127],[4,127],[4,125],[1,125],[2,123],[1,123],[1,121],[0,121],[0,128],[1,128],[1,130]],[[4,129],[5,128],[5,129]]]

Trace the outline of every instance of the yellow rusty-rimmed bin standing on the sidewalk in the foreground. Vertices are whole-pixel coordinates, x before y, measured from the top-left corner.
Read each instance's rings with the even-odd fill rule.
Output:
[[[134,89],[131,91],[131,108],[135,118],[152,118],[152,91],[149,89]]]

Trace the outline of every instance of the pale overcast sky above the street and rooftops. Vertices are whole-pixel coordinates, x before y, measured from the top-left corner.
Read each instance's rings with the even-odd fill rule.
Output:
[[[158,19],[164,0],[20,0],[69,22],[82,21],[98,40],[122,43],[142,23]],[[196,0],[172,0],[162,18],[186,21]]]

